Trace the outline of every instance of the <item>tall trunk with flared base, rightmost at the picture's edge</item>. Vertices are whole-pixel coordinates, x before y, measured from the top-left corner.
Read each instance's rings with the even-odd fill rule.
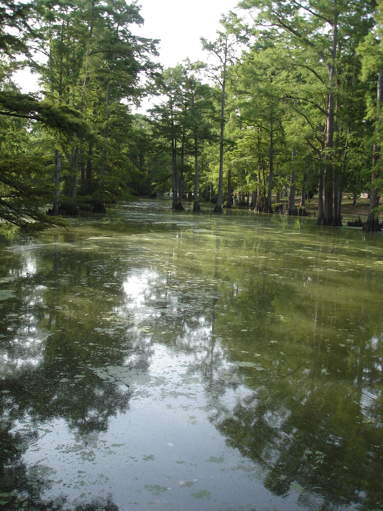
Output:
[[[383,69],[380,69],[377,82],[377,99],[376,99],[376,129],[375,129],[375,142],[374,142],[374,153],[372,155],[372,179],[371,179],[371,198],[370,208],[368,212],[368,218],[363,226],[363,230],[381,230],[379,226],[379,219],[377,216],[377,208],[379,206],[379,190],[376,186],[376,179],[379,177],[379,171],[377,169],[377,163],[380,158],[380,146],[378,144],[378,134],[380,132],[379,119],[380,110],[383,103]]]

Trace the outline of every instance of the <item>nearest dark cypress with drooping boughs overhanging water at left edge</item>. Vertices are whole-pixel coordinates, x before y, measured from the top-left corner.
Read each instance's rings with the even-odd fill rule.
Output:
[[[30,133],[36,123],[62,131],[81,132],[83,125],[67,105],[54,105],[33,95],[21,94],[13,84],[14,55],[25,53],[39,16],[33,4],[2,2],[0,5],[0,219],[24,234],[32,234],[52,219],[43,207],[53,197],[54,188],[46,179],[41,158],[30,148]]]

